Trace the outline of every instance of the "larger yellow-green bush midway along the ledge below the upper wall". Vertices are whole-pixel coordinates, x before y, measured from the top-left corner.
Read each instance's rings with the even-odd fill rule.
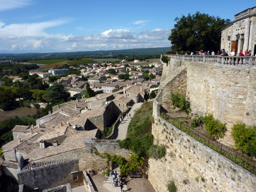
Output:
[[[211,135],[211,138],[222,138],[225,131],[226,131],[226,125],[223,123],[220,123],[219,120],[215,120],[213,118],[213,115],[205,116],[202,118],[206,131],[209,135]]]

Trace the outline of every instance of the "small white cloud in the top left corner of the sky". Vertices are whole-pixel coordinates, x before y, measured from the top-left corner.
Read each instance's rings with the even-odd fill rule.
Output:
[[[0,11],[25,7],[30,5],[30,3],[31,0],[0,0]]]

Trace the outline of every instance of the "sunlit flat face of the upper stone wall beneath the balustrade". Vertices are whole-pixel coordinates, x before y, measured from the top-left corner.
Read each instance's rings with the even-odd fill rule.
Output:
[[[233,145],[231,128],[236,123],[256,125],[256,67],[187,64],[187,98],[192,113],[213,114],[226,123],[222,143]]]

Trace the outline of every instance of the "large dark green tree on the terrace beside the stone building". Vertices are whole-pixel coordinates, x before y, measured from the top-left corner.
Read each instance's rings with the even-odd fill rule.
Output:
[[[221,29],[229,19],[196,12],[175,18],[175,25],[168,38],[172,51],[196,51],[220,49]]]

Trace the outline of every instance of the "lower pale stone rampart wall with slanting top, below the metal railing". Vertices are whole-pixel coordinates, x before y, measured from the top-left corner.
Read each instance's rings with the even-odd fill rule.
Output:
[[[166,155],[149,159],[149,181],[155,191],[167,191],[169,181],[174,181],[178,191],[255,191],[255,175],[162,119],[158,99],[152,134],[155,144],[166,146]]]

